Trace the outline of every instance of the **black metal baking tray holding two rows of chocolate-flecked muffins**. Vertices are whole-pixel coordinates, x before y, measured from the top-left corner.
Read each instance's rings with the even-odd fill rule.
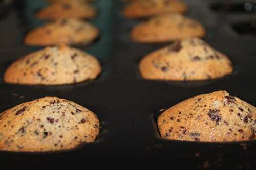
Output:
[[[161,139],[156,127],[159,110],[190,98],[216,90],[227,90],[233,96],[256,105],[255,67],[256,35],[240,35],[233,23],[256,19],[245,13],[222,13],[211,10],[216,1],[185,1],[189,17],[203,23],[204,38],[219,51],[227,54],[234,72],[224,78],[196,81],[149,81],[138,73],[139,60],[149,52],[169,43],[139,44],[132,42],[129,32],[138,20],[125,19],[124,3],[118,0],[98,0],[98,17],[91,20],[101,32],[93,44],[77,47],[95,55],[102,63],[99,78],[89,82],[64,86],[23,86],[3,82],[8,65],[27,53],[42,47],[26,46],[26,32],[43,23],[33,18],[34,11],[43,7],[42,1],[16,1],[8,15],[0,19],[0,111],[17,104],[58,96],[74,101],[95,112],[101,121],[96,142],[60,152],[17,153],[0,152],[1,163],[57,163],[94,161],[131,164],[151,163],[189,169],[254,169],[255,141],[230,143],[181,142]],[[224,2],[224,1],[223,1]],[[115,161],[119,159],[118,161]],[[148,162],[148,161],[147,161]],[[101,164],[101,163],[100,163]],[[104,165],[104,164],[101,164]]]

